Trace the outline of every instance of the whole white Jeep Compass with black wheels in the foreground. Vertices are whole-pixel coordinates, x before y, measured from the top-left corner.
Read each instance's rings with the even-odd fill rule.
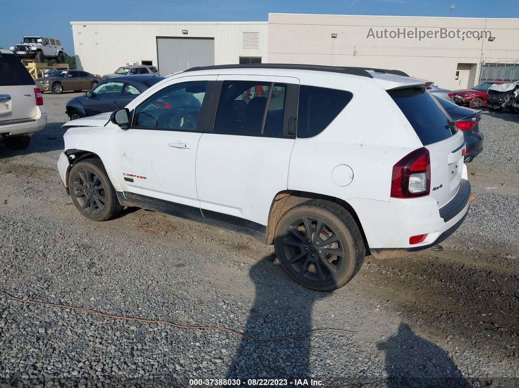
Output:
[[[425,81],[400,74],[189,69],[66,123],[59,173],[91,220],[138,206],[248,233],[295,281],[333,290],[366,254],[431,247],[468,212],[463,134]]]

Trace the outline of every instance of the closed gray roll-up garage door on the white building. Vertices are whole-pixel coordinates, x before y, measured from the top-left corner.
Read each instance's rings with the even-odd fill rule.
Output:
[[[195,66],[214,65],[213,38],[157,37],[158,67],[161,76]]]

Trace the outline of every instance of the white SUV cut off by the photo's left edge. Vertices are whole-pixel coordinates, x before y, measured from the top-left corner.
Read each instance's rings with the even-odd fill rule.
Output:
[[[26,148],[46,123],[42,91],[20,60],[0,49],[0,142],[10,149]]]

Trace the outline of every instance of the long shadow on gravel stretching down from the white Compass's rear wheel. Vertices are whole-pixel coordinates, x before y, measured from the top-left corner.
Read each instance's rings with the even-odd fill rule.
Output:
[[[275,260],[275,255],[266,256],[249,272],[256,286],[244,328],[249,337],[266,339],[309,332],[313,304],[330,295],[296,284],[280,266],[277,271],[272,268]],[[227,378],[241,379],[242,383],[248,378],[288,379],[289,384],[293,379],[309,381],[309,347],[309,334],[273,341],[242,338]]]

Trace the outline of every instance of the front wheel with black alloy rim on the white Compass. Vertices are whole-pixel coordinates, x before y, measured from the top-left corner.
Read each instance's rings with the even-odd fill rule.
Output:
[[[122,210],[114,186],[99,159],[77,162],[69,174],[69,190],[74,206],[92,221],[107,221]]]

